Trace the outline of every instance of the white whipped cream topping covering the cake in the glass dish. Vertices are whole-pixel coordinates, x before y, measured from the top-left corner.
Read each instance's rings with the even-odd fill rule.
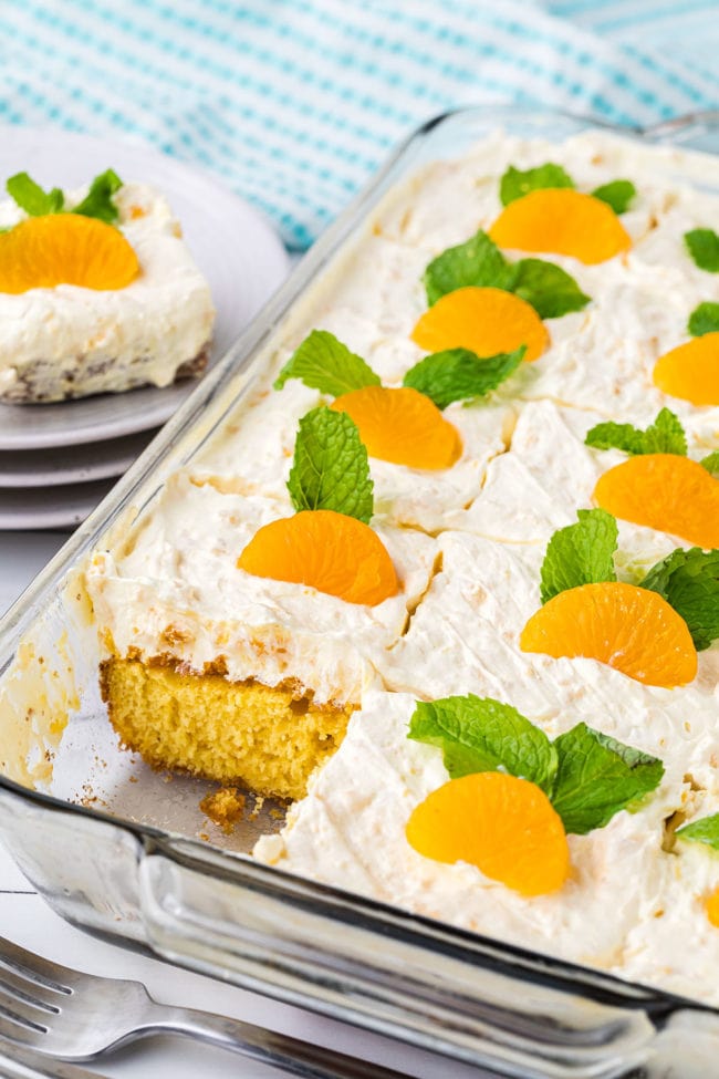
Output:
[[[384,384],[399,385],[424,356],[410,334],[427,305],[427,263],[489,228],[507,166],[546,160],[562,164],[583,190],[633,180],[637,198],[622,221],[634,246],[596,267],[546,256],[591,303],[548,320],[551,346],[488,402],[445,411],[465,448],[452,469],[419,473],[371,460],[373,527],[403,577],[403,596],[354,608],[238,571],[237,554],[257,527],[291,511],[285,484],[298,422],[329,400],[296,381],[272,391],[294,349],[312,329],[329,330]],[[719,930],[701,906],[719,884],[719,861],[701,844],[665,849],[673,815],[694,819],[719,809],[719,647],[701,652],[697,677],[674,689],[645,686],[593,660],[519,647],[540,606],[552,532],[591,507],[598,477],[625,459],[585,446],[587,429],[608,418],[646,427],[667,406],[685,425],[691,457],[719,447],[719,408],[696,408],[652,382],[656,359],[688,339],[694,308],[719,301],[719,274],[699,270],[684,242],[685,231],[717,220],[717,196],[695,186],[708,170],[716,170],[713,158],[598,133],[561,146],[498,134],[461,160],[428,166],[387,196],[292,313],[248,402],[125,546],[95,557],[87,583],[98,624],[121,654],[169,652],[201,671],[219,650],[230,677],[274,684],[293,675],[320,699],[361,695],[342,746],[283,832],[260,841],[258,858],[719,1003]],[[688,546],[619,522],[619,575],[638,582]],[[183,640],[167,626],[179,626]],[[447,780],[439,750],[406,737],[414,702],[470,692],[512,704],[551,737],[584,720],[664,761],[659,789],[636,812],[570,837],[572,876],[554,895],[522,899],[472,865],[421,858],[405,839],[411,810]]]

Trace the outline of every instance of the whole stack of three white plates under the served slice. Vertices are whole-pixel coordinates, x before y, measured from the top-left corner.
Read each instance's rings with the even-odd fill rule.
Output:
[[[288,272],[288,255],[257,210],[145,145],[18,127],[0,127],[0,188],[19,172],[45,188],[72,188],[114,168],[167,196],[217,307],[210,364]],[[79,525],[195,385],[188,380],[59,404],[0,404],[0,529]]]

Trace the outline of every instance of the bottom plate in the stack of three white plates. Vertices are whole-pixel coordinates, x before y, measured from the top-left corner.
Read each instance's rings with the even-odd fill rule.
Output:
[[[112,479],[66,487],[0,490],[0,529],[73,528],[113,486]]]

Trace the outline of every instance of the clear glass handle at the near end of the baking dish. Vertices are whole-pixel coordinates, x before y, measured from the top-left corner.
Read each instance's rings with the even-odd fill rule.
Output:
[[[719,1017],[708,1009],[470,934],[459,942],[458,931],[392,907],[377,904],[375,919],[351,895],[298,878],[278,888],[277,871],[251,860],[238,859],[237,872],[222,860],[223,872],[209,875],[218,855],[166,845],[175,849],[143,859],[139,893],[148,942],[171,962],[206,974],[221,966],[229,981],[286,1003],[311,995],[332,1018],[490,1075],[712,1073]]]

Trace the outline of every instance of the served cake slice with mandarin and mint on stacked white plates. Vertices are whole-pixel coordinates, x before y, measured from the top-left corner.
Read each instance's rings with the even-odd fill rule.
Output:
[[[207,365],[215,309],[167,200],[107,169],[0,204],[0,401],[167,386]]]

